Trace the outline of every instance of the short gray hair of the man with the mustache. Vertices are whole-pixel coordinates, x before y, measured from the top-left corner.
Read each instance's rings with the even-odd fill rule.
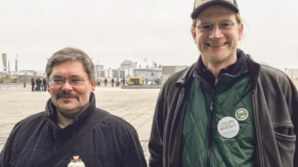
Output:
[[[89,76],[89,80],[92,82],[96,79],[96,71],[94,64],[92,63],[90,57],[83,52],[81,49],[67,47],[59,50],[54,53],[52,57],[48,60],[45,67],[45,73],[47,74],[47,79],[49,80],[50,75],[53,71],[54,65],[59,65],[61,62],[71,60],[71,61],[80,61],[83,63],[84,70]]]

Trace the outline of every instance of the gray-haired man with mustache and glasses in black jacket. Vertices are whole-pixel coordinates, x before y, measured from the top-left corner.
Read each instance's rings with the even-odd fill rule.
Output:
[[[96,71],[82,50],[59,50],[48,60],[45,71],[51,95],[45,112],[15,125],[0,154],[0,167],[41,166],[86,124],[89,126],[92,118],[105,113],[96,108]],[[129,123],[109,114],[95,125],[52,166],[66,167],[73,156],[79,156],[77,159],[88,167],[147,166],[137,132]]]

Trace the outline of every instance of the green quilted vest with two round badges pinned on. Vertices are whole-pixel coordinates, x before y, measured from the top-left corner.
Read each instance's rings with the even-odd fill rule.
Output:
[[[229,121],[224,122],[226,117]],[[230,121],[233,124],[228,124]],[[225,124],[228,126],[222,126]],[[229,130],[223,137],[220,131],[225,128]],[[227,138],[229,133],[235,136]],[[248,68],[238,77],[221,75],[214,90],[207,83],[193,80],[183,122],[183,167],[253,167],[254,138]]]

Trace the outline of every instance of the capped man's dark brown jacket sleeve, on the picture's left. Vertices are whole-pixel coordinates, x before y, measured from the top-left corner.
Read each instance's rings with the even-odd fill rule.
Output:
[[[162,167],[163,165],[163,134],[164,134],[164,94],[168,82],[159,93],[155,106],[148,149],[150,152],[149,167]]]

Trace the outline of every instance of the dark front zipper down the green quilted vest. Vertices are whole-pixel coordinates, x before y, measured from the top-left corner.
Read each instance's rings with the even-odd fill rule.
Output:
[[[212,100],[211,100],[211,105],[210,105],[210,121],[209,121],[209,128],[208,128],[208,144],[207,144],[207,165],[206,165],[207,167],[211,166],[215,91],[216,91],[216,86],[215,86],[214,90],[212,90]]]

